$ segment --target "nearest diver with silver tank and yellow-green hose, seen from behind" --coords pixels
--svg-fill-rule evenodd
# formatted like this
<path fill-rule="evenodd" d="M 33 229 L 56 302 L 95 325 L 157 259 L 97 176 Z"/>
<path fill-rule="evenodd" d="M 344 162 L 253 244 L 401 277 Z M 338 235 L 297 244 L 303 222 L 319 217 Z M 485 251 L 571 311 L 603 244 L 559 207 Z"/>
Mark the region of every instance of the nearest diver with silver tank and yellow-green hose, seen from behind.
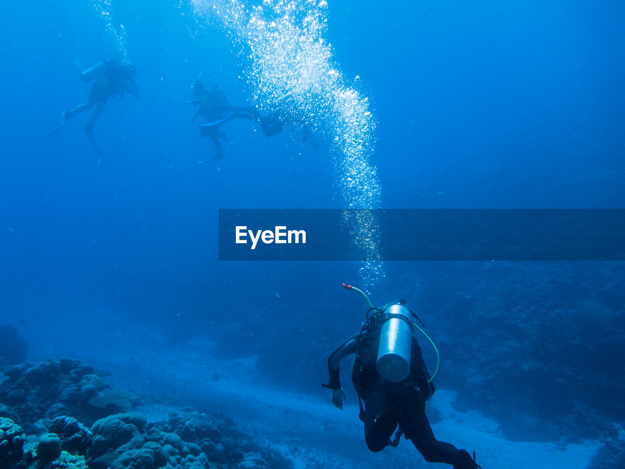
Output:
<path fill-rule="evenodd" d="M 432 380 L 438 373 L 438 366 L 430 377 L 413 335 L 416 329 L 425 335 L 412 322 L 413 317 L 419 318 L 404 306 L 403 298 L 399 303 L 374 308 L 362 291 L 351 285 L 343 286 L 362 295 L 370 309 L 361 331 L 347 338 L 327 359 L 330 380 L 322 386 L 332 390 L 332 404 L 343 408 L 342 400 L 346 395 L 339 380 L 339 361 L 354 354 L 352 383 L 358 394 L 360 419 L 364 422 L 364 438 L 369 450 L 376 452 L 387 445 L 397 446 L 403 434 L 428 462 L 446 463 L 454 469 L 480 468 L 475 462 L 475 453 L 471 458 L 466 450 L 436 440 L 427 421 L 426 400 L 434 393 Z M 434 345 L 427 335 L 426 338 Z M 436 346 L 434 348 L 436 350 Z M 437 350 L 436 353 L 438 355 Z M 438 361 L 440 364 L 440 357 Z M 391 440 L 393 433 L 395 436 Z"/>

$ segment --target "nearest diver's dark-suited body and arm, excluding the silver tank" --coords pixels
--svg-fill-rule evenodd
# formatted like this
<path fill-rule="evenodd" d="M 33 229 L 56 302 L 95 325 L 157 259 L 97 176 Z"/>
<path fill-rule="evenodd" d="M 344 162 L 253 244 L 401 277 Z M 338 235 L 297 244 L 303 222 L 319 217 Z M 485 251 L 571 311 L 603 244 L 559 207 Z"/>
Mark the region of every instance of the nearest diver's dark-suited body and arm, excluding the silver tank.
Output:
<path fill-rule="evenodd" d="M 351 286 L 347 287 L 352 289 Z M 404 300 L 398 304 L 403 305 Z M 364 438 L 369 450 L 376 452 L 387 445 L 397 446 L 403 433 L 428 462 L 447 463 L 453 465 L 454 469 L 478 469 L 480 466 L 466 450 L 458 450 L 451 443 L 434 437 L 425 412 L 426 400 L 434 393 L 434 385 L 414 336 L 411 337 L 410 371 L 407 377 L 394 382 L 382 378 L 378 372 L 376 361 L 382 325 L 389 320 L 389 316 L 400 316 L 386 312 L 391 306 L 371 308 L 369 311 L 374 311 L 374 314 L 367 318 L 361 332 L 347 338 L 332 351 L 327 359 L 329 384 L 322 386 L 332 390 L 332 404 L 342 410 L 342 400 L 346 396 L 339 380 L 339 361 L 355 354 L 352 383 L 358 393 L 358 400 L 364 401 L 364 408 L 360 402 L 360 418 L 364 422 Z"/>

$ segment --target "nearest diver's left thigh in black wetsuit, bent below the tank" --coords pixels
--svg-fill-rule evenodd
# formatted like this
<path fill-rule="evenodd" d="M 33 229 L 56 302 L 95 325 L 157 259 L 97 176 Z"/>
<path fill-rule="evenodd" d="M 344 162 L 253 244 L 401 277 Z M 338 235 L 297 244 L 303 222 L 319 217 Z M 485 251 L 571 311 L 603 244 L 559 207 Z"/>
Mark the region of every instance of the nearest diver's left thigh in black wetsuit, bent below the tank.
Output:
<path fill-rule="evenodd" d="M 392 403 L 387 391 L 374 388 L 367 391 L 364 399 L 364 440 L 374 453 L 382 451 L 397 428 Z"/>

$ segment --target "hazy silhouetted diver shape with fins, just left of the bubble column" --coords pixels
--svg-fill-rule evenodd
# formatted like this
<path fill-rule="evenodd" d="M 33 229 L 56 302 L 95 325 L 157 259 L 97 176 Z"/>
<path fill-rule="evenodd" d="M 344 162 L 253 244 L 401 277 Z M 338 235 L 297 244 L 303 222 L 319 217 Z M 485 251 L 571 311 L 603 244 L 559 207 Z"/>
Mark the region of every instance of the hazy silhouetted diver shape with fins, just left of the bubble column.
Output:
<path fill-rule="evenodd" d="M 247 119 L 259 124 L 262 133 L 266 137 L 279 134 L 289 126 L 288 119 L 281 116 L 279 111 L 261 116 L 256 108 L 230 106 L 226 94 L 216 83 L 211 84 L 210 88 L 206 88 L 201 80 L 196 80 L 191 88 L 193 99 L 187 101 L 187 104 L 199 106 L 196 114 L 191 119 L 191 123 L 194 124 L 197 118 L 200 117 L 206 119 L 205 123 L 198 124 L 196 127 L 201 129 L 200 135 L 210 138 L 215 146 L 217 153 L 214 158 L 211 159 L 219 159 L 224 156 L 224 152 L 221 149 L 221 142 L 219 141 L 220 139 L 230 146 L 234 146 L 234 143 L 232 143 L 227 134 L 219 129 L 222 124 L 233 121 L 234 119 Z M 206 161 L 210 160 L 205 159 L 197 163 L 206 163 Z"/>

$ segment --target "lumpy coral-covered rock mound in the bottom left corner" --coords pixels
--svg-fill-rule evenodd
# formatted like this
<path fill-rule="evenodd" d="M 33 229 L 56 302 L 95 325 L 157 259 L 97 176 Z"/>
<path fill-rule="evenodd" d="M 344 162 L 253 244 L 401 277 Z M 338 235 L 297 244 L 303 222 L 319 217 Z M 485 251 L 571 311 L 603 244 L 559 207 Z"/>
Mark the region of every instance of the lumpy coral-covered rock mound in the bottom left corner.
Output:
<path fill-rule="evenodd" d="M 0 469 L 293 466 L 226 415 L 146 414 L 142 398 L 106 383 L 109 374 L 71 358 L 0 368 Z"/>

